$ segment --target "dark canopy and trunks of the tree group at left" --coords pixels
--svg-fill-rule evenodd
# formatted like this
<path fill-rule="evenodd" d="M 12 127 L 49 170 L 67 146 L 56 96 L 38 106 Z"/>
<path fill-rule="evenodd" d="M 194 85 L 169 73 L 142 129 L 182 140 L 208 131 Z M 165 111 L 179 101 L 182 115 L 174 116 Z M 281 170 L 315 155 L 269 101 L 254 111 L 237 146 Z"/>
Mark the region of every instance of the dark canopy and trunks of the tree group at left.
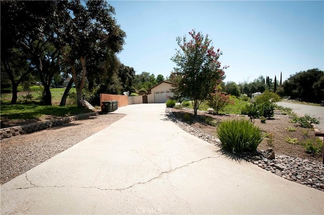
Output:
<path fill-rule="evenodd" d="M 81 100 L 86 76 L 93 79 L 95 74 L 111 73 L 107 59 L 123 49 L 126 33 L 114 14 L 114 8 L 103 0 L 85 4 L 1 1 L 1 66 L 12 82 L 12 103 L 17 99 L 18 84 L 36 70 L 44 85 L 43 101 L 51 105 L 52 80 L 66 68 L 76 85 L 77 101 Z M 17 59 L 23 62 L 17 63 Z M 118 74 L 110 77 L 119 78 Z"/>

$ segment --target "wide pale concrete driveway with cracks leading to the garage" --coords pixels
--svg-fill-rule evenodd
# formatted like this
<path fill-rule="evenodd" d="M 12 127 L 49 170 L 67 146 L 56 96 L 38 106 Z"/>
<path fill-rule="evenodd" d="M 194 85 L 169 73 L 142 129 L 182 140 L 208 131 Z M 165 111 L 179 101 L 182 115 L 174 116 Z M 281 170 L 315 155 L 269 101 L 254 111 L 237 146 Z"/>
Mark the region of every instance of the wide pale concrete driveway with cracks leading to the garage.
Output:
<path fill-rule="evenodd" d="M 164 104 L 116 112 L 128 115 L 2 185 L 1 214 L 324 213 L 324 192 L 222 155 Z"/>

